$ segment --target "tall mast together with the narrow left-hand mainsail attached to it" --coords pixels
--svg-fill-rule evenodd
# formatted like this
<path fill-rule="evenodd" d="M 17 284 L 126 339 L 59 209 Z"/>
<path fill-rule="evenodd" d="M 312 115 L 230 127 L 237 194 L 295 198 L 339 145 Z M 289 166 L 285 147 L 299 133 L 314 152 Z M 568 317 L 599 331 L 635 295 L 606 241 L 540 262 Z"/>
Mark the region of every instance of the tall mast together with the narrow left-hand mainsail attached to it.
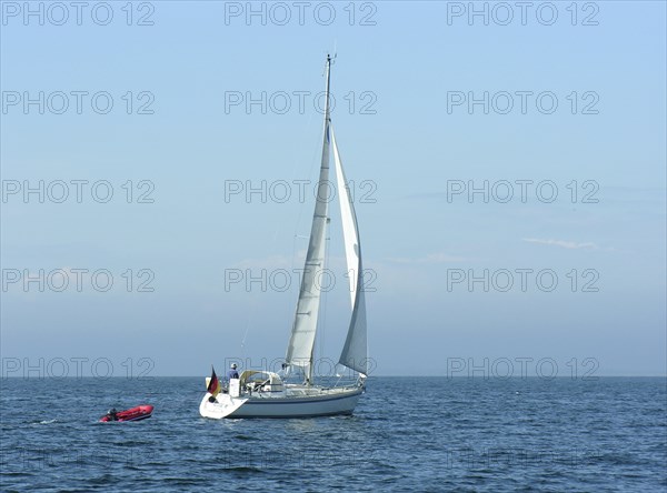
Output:
<path fill-rule="evenodd" d="M 285 356 L 287 364 L 300 366 L 305 370 L 308 383 L 310 383 L 312 376 L 312 356 L 321 296 L 321 272 L 325 268 L 327 223 L 329 220 L 330 69 L 331 57 L 327 54 L 327 87 L 325 92 L 326 102 L 320 175 L 317 187 L 315 212 L 312 214 L 312 225 L 310 228 L 308 252 L 306 254 L 303 275 L 299 289 L 299 300 L 297 301 L 291 336 L 287 346 L 287 355 Z"/>

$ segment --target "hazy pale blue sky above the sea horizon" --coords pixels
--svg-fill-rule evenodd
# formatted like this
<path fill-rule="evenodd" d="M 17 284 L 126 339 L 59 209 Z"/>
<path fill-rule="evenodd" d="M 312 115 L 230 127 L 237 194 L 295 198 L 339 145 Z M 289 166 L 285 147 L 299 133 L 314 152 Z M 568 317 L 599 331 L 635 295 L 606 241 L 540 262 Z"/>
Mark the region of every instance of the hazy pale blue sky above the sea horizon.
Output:
<path fill-rule="evenodd" d="M 246 18 L 246 2 L 133 3 L 128 26 L 125 4 L 110 3 L 107 26 L 100 8 L 96 18 L 84 10 L 81 26 L 70 8 L 56 26 L 61 12 L 42 3 L 40 26 L 16 11 L 22 2 L 2 3 L 3 361 L 108 359 L 122 375 L 128 358 L 147 358 L 155 375 L 203 375 L 225 358 L 281 358 L 298 279 L 266 292 L 225 281 L 237 270 L 300 266 L 321 145 L 313 101 L 336 47 L 332 119 L 375 279 L 376 374 L 445 375 L 448 359 L 486 359 L 490 369 L 522 358 L 550 359 L 561 376 L 573 364 L 585 371 L 587 358 L 598 375 L 666 373 L 663 2 L 579 2 L 576 26 L 570 2 L 554 3 L 551 26 L 549 10 L 539 19 L 529 10 L 522 26 L 515 7 L 500 26 L 504 12 L 478 2 L 486 26 L 467 11 L 452 17 L 468 2 L 398 1 L 311 2 L 302 26 L 291 2 L 253 3 L 263 23 Z M 141 16 L 153 24 L 137 26 Z M 40 91 L 43 114 L 39 104 L 26 110 L 24 97 Z M 69 107 L 57 114 L 60 91 Z M 87 93 L 81 114 L 72 91 Z M 91 105 L 100 92 L 113 101 L 106 114 Z M 248 110 L 247 97 L 262 92 L 265 111 Z M 485 92 L 487 111 L 470 110 L 468 99 Z M 461 94 L 465 103 L 452 105 Z M 145 103 L 152 114 L 138 114 Z M 80 203 L 72 180 L 87 181 Z M 310 180 L 309 200 L 298 200 L 295 180 Z M 24 199 L 24 184 L 40 181 L 43 203 L 39 193 Z M 61 181 L 70 195 L 58 203 Z M 266 201 L 226 197 L 232 183 L 262 181 Z M 292 195 L 273 200 L 285 182 Z M 485 182 L 486 202 L 467 194 Z M 504 202 L 507 183 L 514 195 Z M 109 187 L 113 197 L 101 203 Z M 138 203 L 143 192 L 152 203 Z M 344 282 L 327 294 L 317 346 L 334 359 L 349 303 L 336 214 L 330 260 Z M 52 289 L 59 273 L 43 292 L 10 282 L 40 269 L 63 270 L 70 285 Z M 79 292 L 77 269 L 106 269 L 113 286 L 100 292 L 82 273 Z M 557 275 L 552 291 L 537 284 L 542 271 Z M 488 291 L 468 284 L 485 272 Z M 507 272 L 514 284 L 504 290 Z M 143 281 L 152 292 L 138 291 Z"/>

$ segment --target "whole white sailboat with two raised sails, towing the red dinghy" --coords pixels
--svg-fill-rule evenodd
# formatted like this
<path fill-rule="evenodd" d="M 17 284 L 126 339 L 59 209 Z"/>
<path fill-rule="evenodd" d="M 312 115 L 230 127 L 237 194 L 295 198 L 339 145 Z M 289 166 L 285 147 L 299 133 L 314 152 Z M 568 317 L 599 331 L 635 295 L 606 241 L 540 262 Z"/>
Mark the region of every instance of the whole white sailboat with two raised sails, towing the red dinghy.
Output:
<path fill-rule="evenodd" d="M 367 354 L 366 300 L 361 243 L 355 205 L 342 170 L 330 115 L 331 57 L 326 64 L 326 103 L 322 140 L 322 158 L 312 214 L 312 225 L 306 263 L 299 289 L 299 299 L 287 345 L 283 371 L 245 370 L 238 379 L 230 379 L 229 386 L 220 392 L 217 378 L 207 380 L 207 393 L 199 405 L 205 417 L 307 417 L 351 414 L 366 390 L 369 360 Z M 329 225 L 329 161 L 334 154 L 337 197 L 340 205 L 346 262 L 350 283 L 350 316 L 347 338 L 339 364 L 352 370 L 358 376 L 342 385 L 321 385 L 315 382 L 313 350 L 318 328 L 321 286 L 319 279 L 325 270 L 327 230 Z M 302 381 L 290 383 L 291 374 Z M 215 384 L 211 384 L 215 383 Z"/>

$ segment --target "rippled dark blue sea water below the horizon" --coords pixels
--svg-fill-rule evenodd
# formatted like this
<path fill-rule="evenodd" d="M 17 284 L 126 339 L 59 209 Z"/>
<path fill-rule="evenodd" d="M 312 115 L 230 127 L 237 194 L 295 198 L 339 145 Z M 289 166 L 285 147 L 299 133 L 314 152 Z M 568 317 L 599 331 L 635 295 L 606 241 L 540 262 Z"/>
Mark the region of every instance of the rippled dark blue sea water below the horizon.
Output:
<path fill-rule="evenodd" d="M 352 416 L 222 421 L 202 378 L 0 384 L 2 492 L 667 490 L 661 378 L 370 378 Z"/>

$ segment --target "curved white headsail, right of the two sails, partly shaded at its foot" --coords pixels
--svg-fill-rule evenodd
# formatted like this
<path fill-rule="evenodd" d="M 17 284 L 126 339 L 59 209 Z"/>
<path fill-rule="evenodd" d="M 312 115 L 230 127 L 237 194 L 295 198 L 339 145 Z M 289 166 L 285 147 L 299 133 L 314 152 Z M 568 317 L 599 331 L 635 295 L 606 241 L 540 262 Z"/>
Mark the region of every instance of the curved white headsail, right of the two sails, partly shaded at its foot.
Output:
<path fill-rule="evenodd" d="M 355 204 L 347 188 L 342 162 L 336 144 L 334 128 L 331 131 L 331 143 L 334 145 L 334 162 L 336 168 L 336 180 L 338 184 L 338 202 L 340 203 L 340 219 L 342 223 L 342 235 L 345 239 L 345 256 L 350 281 L 350 298 L 352 316 L 348 329 L 347 339 L 340 354 L 339 363 L 358 371 L 368 373 L 368 346 L 366 335 L 366 298 L 364 295 L 364 269 L 361 266 L 361 243 L 359 241 L 359 229 L 357 227 L 357 214 Z"/>

